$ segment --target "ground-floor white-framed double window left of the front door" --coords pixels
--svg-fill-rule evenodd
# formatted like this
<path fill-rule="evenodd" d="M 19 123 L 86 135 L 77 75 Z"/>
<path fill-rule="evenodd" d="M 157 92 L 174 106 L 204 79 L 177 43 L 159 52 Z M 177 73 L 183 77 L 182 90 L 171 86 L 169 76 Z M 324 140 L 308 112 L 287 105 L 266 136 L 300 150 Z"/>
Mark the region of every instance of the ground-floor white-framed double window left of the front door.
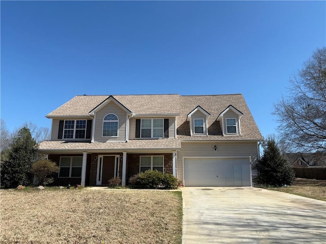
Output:
<path fill-rule="evenodd" d="M 83 157 L 61 157 L 60 178 L 82 177 Z"/>

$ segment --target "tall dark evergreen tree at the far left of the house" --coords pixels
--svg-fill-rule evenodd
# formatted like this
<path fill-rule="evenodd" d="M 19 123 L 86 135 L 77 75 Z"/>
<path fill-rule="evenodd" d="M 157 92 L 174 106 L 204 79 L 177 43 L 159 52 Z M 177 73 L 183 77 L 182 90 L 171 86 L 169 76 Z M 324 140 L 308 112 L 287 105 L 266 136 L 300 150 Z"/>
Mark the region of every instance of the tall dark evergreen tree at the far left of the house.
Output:
<path fill-rule="evenodd" d="M 37 153 L 37 143 L 27 128 L 22 128 L 13 137 L 7 160 L 2 162 L 1 183 L 7 188 L 26 186 L 32 180 L 29 173 Z"/>

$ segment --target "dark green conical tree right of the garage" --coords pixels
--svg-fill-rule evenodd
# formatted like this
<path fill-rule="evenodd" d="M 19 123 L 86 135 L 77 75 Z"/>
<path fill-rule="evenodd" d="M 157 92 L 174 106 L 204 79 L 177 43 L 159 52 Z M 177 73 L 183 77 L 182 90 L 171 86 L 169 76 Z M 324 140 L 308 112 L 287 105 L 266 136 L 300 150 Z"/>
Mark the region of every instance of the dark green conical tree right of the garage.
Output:
<path fill-rule="evenodd" d="M 263 147 L 264 155 L 257 165 L 260 171 L 260 183 L 273 187 L 291 185 L 295 180 L 295 173 L 281 155 L 275 140 L 265 140 Z"/>

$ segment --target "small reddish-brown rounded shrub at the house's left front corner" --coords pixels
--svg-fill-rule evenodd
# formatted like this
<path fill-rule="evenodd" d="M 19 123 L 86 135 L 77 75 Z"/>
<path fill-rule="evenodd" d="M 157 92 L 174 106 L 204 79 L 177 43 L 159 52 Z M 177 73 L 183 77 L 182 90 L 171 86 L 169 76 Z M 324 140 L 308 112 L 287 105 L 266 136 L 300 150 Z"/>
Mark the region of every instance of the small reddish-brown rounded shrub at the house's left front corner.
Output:
<path fill-rule="evenodd" d="M 41 159 L 35 162 L 31 168 L 31 173 L 33 173 L 35 177 L 35 185 L 45 186 L 47 184 L 51 184 L 53 182 L 53 178 L 48 176 L 58 172 L 59 167 L 57 164 L 46 159 Z"/>

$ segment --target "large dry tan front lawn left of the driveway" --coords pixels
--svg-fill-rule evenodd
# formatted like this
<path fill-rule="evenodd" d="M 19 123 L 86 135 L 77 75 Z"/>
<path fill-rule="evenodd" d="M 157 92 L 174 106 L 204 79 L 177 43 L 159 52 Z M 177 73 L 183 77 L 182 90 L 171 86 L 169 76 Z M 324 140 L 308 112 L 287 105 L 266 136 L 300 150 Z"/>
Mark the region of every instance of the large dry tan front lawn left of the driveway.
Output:
<path fill-rule="evenodd" d="M 181 243 L 181 192 L 1 190 L 1 243 Z"/>

